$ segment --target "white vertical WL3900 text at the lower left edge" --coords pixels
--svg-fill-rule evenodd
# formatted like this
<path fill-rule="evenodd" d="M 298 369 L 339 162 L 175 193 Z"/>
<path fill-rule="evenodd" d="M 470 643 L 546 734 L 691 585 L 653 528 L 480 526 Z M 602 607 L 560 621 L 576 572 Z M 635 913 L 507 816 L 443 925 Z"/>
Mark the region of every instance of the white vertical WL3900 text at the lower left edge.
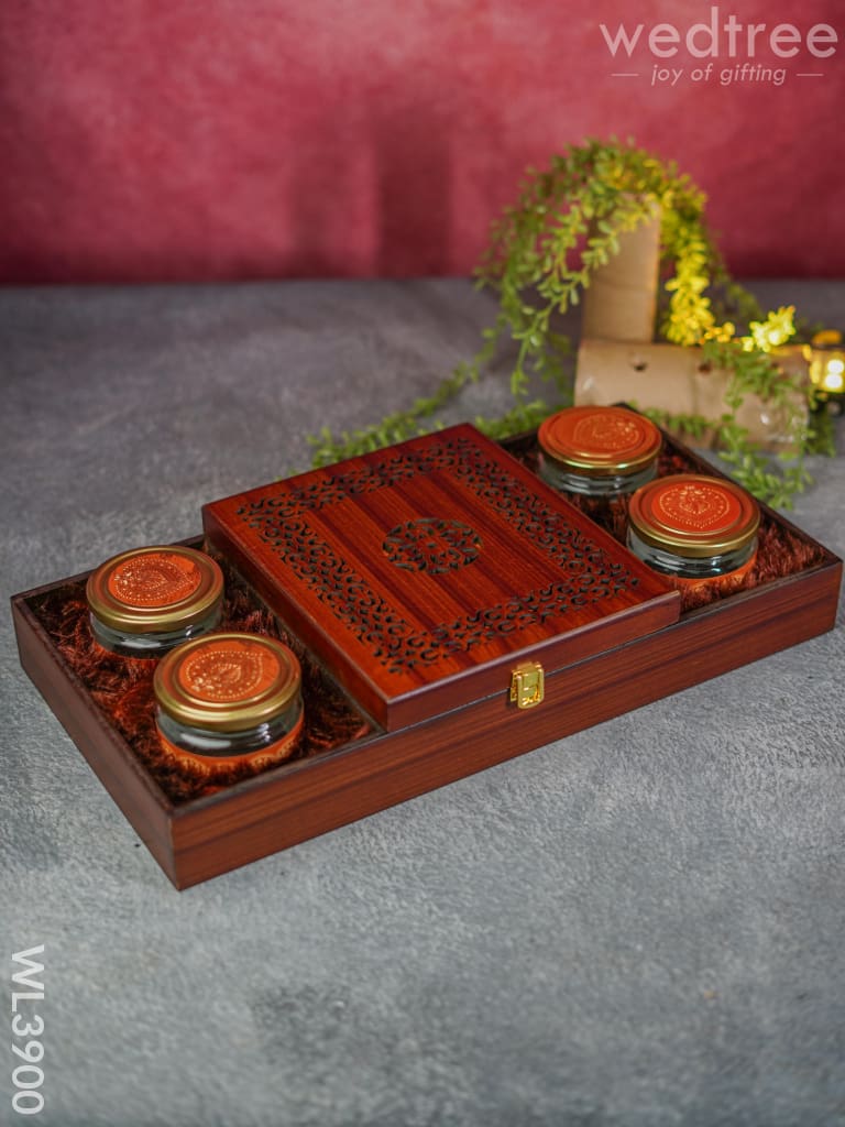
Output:
<path fill-rule="evenodd" d="M 44 1042 L 39 1040 L 44 1019 L 35 1012 L 36 1004 L 44 1001 L 44 985 L 36 982 L 44 974 L 44 966 L 35 961 L 37 955 L 44 955 L 43 943 L 11 957 L 12 964 L 19 967 L 11 976 L 11 1082 L 15 1088 L 11 1106 L 20 1116 L 37 1116 L 44 1107 L 44 1070 L 41 1067 Z"/>

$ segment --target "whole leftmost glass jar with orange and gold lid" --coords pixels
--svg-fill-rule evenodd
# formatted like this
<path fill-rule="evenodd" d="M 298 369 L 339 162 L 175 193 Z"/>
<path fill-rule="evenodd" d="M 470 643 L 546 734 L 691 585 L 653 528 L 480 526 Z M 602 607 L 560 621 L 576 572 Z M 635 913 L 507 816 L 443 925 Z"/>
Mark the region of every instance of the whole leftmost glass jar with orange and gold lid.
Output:
<path fill-rule="evenodd" d="M 131 657 L 158 657 L 217 627 L 223 573 L 194 548 L 136 548 L 97 568 L 86 596 L 100 646 Z"/>

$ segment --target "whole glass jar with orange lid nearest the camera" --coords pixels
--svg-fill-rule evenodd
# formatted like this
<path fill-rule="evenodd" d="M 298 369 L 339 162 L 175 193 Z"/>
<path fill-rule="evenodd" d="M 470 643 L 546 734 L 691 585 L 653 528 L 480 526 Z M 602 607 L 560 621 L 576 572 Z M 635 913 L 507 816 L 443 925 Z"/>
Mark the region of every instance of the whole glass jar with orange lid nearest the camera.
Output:
<path fill-rule="evenodd" d="M 288 758 L 304 722 L 296 655 L 274 638 L 211 633 L 155 669 L 155 724 L 177 757 L 210 775 Z"/>

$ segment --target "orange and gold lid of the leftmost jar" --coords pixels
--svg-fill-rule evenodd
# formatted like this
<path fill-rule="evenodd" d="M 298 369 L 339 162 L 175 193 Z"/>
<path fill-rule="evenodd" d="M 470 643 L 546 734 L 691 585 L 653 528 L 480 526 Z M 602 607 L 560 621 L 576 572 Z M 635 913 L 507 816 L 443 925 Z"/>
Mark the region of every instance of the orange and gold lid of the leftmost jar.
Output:
<path fill-rule="evenodd" d="M 97 568 L 86 596 L 91 612 L 113 630 L 164 633 L 206 618 L 220 605 L 223 573 L 194 548 L 135 548 Z"/>

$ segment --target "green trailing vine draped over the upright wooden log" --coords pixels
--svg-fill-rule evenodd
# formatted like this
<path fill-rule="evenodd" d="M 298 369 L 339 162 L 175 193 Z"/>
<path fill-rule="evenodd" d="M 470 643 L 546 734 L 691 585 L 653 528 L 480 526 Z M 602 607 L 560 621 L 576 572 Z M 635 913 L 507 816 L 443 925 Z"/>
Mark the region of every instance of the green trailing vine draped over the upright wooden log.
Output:
<path fill-rule="evenodd" d="M 493 437 L 528 429 L 571 402 L 564 358 L 568 338 L 560 316 L 578 305 L 596 269 L 619 251 L 620 237 L 661 215 L 661 287 L 658 339 L 701 348 L 702 362 L 730 373 L 720 418 L 649 411 L 661 425 L 693 437 L 715 432 L 720 455 L 733 476 L 763 499 L 789 506 L 810 481 L 803 455 L 818 443 L 808 423 L 809 392 L 777 366 L 772 350 L 795 335 L 793 310 L 764 314 L 751 294 L 732 281 L 708 229 L 704 194 L 679 174 L 632 142 L 595 140 L 552 157 L 543 171 L 531 170 L 515 204 L 493 224 L 475 270 L 479 286 L 498 296 L 493 323 L 481 347 L 460 364 L 429 397 L 381 423 L 339 436 L 323 429 L 309 438 L 314 465 L 374 450 L 437 426 L 437 415 L 496 360 L 501 344 L 516 348 L 510 373 L 514 406 L 501 417 L 475 423 Z M 539 398 L 537 383 L 548 393 Z M 756 393 L 791 412 L 794 452 L 789 461 L 763 454 L 739 426 L 737 410 Z M 632 397 L 634 399 L 634 397 Z M 824 443 L 822 443 L 824 445 Z"/>

